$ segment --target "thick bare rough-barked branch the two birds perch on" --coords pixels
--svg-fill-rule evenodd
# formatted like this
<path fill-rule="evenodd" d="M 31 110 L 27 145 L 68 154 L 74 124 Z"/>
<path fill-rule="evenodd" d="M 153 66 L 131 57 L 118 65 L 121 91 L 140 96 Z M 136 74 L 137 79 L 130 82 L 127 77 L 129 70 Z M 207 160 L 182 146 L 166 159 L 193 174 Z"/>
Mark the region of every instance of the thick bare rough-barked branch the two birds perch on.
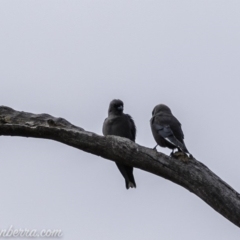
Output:
<path fill-rule="evenodd" d="M 116 136 L 99 136 L 63 118 L 0 107 L 0 135 L 52 139 L 166 178 L 240 227 L 240 194 L 196 159 L 187 163 Z"/>

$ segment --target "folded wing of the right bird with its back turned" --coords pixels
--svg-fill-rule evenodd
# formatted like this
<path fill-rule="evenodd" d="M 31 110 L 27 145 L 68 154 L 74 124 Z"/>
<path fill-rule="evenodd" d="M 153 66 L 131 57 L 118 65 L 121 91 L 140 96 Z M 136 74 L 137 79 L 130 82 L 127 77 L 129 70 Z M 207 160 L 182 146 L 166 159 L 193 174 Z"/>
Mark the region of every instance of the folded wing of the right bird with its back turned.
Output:
<path fill-rule="evenodd" d="M 153 123 L 153 127 L 156 129 L 157 133 L 160 134 L 166 141 L 171 143 L 176 148 L 180 148 L 183 152 L 186 152 L 186 146 L 184 143 L 181 143 L 176 136 L 174 135 L 171 127 L 169 125 L 160 125 L 156 122 Z"/>

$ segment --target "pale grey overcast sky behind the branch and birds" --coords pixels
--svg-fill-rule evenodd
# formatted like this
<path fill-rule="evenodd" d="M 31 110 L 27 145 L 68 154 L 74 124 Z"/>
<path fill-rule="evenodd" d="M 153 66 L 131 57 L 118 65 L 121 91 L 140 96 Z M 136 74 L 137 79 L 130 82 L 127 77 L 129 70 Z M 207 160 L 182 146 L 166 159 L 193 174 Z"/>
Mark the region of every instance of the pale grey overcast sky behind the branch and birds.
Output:
<path fill-rule="evenodd" d="M 102 134 L 125 104 L 136 142 L 168 105 L 189 151 L 240 191 L 240 1 L 2 0 L 0 105 L 63 117 Z M 239 240 L 186 189 L 58 142 L 1 137 L 0 227 L 62 229 L 63 239 Z M 170 150 L 158 148 L 166 154 Z"/>

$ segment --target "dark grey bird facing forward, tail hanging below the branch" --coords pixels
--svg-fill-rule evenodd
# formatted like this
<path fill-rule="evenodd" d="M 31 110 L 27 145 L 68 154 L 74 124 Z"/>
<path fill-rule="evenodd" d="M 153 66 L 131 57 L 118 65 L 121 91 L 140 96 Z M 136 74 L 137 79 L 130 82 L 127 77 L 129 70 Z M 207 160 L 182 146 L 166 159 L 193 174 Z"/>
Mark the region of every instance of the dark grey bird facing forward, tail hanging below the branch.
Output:
<path fill-rule="evenodd" d="M 121 100 L 114 99 L 110 102 L 108 117 L 104 120 L 102 131 L 104 136 L 115 135 L 135 142 L 136 126 L 132 117 L 123 113 L 123 102 Z M 116 164 L 125 179 L 126 188 L 136 188 L 133 167 Z"/>

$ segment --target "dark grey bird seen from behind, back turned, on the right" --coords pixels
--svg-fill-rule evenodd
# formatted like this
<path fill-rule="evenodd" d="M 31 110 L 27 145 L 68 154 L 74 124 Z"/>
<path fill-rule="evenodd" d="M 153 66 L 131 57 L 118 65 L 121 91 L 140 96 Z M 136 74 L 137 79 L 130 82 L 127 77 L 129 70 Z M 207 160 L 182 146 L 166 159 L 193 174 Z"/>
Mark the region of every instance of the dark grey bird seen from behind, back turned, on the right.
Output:
<path fill-rule="evenodd" d="M 173 116 L 168 106 L 157 105 L 152 111 L 150 124 L 157 146 L 172 149 L 171 155 L 174 153 L 174 149 L 178 149 L 178 151 L 191 156 L 183 140 L 184 134 L 181 123 Z"/>

